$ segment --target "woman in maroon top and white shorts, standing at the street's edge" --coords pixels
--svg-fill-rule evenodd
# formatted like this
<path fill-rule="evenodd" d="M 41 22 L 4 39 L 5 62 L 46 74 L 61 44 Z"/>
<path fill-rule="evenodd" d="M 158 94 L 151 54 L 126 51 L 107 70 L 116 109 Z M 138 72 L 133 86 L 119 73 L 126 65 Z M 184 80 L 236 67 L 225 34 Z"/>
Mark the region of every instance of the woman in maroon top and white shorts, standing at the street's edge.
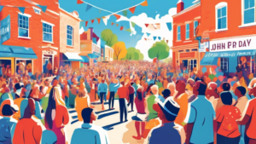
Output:
<path fill-rule="evenodd" d="M 134 139 L 140 140 L 143 138 L 143 132 L 145 130 L 145 125 L 147 121 L 147 101 L 143 97 L 143 87 L 137 89 L 137 96 L 135 98 L 135 106 L 137 108 L 137 115 L 132 117 L 132 120 L 135 120 L 135 128 L 137 131 L 137 136 L 133 135 Z M 140 133 L 142 131 L 142 133 Z"/>

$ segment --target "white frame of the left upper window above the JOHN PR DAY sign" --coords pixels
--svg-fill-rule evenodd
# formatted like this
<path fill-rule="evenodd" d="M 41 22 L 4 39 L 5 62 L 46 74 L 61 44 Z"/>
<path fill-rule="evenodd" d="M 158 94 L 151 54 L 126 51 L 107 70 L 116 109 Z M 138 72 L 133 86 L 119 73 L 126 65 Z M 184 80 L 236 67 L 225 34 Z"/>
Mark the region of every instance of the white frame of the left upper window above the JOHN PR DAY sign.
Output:
<path fill-rule="evenodd" d="M 222 29 L 218 29 L 218 9 L 222 9 L 226 7 L 226 28 L 222 28 Z M 228 24 L 229 24 L 229 17 L 228 17 L 228 3 L 226 2 L 221 2 L 221 3 L 218 3 L 216 6 L 215 6 L 215 32 L 221 32 L 221 31 L 227 31 L 228 30 Z"/>

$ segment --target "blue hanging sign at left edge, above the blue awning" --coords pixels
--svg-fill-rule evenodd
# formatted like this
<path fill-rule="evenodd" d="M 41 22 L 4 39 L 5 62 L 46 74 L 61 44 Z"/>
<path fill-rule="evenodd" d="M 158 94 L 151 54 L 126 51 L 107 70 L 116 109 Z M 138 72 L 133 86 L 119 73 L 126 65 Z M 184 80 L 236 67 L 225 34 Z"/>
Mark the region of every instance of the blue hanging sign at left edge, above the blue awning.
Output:
<path fill-rule="evenodd" d="M 1 21 L 1 28 L 0 28 L 0 43 L 9 40 L 10 38 L 10 16 L 8 15 L 5 19 Z"/>

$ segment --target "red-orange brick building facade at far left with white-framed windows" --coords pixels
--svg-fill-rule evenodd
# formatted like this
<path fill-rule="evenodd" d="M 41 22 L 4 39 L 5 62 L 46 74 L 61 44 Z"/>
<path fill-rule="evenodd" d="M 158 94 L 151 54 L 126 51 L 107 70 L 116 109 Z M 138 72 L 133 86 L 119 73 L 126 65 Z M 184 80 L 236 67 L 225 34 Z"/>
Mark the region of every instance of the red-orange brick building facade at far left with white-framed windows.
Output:
<path fill-rule="evenodd" d="M 37 5 L 47 6 L 45 12 Z M 10 17 L 10 38 L 0 45 L 12 49 L 32 49 L 37 58 L 28 56 L 3 57 L 2 63 L 11 65 L 11 72 L 18 72 L 18 64 L 25 64 L 25 71 L 44 72 L 45 63 L 51 62 L 52 68 L 59 67 L 60 54 L 60 14 L 59 3 L 56 0 L 33 0 L 28 3 L 24 0 L 1 1 L 3 6 L 26 7 L 24 14 L 18 8 L 4 7 L 0 20 Z M 15 48 L 15 47 L 14 47 Z M 6 61 L 7 60 L 7 61 Z M 8 61 L 10 60 L 10 62 Z M 28 64 L 31 67 L 27 68 Z"/>

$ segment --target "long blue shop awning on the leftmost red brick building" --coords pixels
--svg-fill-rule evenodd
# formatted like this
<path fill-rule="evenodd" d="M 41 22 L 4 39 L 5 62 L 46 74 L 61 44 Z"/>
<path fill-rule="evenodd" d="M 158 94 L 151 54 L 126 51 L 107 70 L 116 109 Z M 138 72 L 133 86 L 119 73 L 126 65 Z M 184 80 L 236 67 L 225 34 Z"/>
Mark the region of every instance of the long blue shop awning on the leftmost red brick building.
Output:
<path fill-rule="evenodd" d="M 0 48 L 1 48 L 0 57 L 38 59 L 38 56 L 35 54 L 35 52 L 31 48 L 9 46 L 9 45 L 0 45 Z"/>

